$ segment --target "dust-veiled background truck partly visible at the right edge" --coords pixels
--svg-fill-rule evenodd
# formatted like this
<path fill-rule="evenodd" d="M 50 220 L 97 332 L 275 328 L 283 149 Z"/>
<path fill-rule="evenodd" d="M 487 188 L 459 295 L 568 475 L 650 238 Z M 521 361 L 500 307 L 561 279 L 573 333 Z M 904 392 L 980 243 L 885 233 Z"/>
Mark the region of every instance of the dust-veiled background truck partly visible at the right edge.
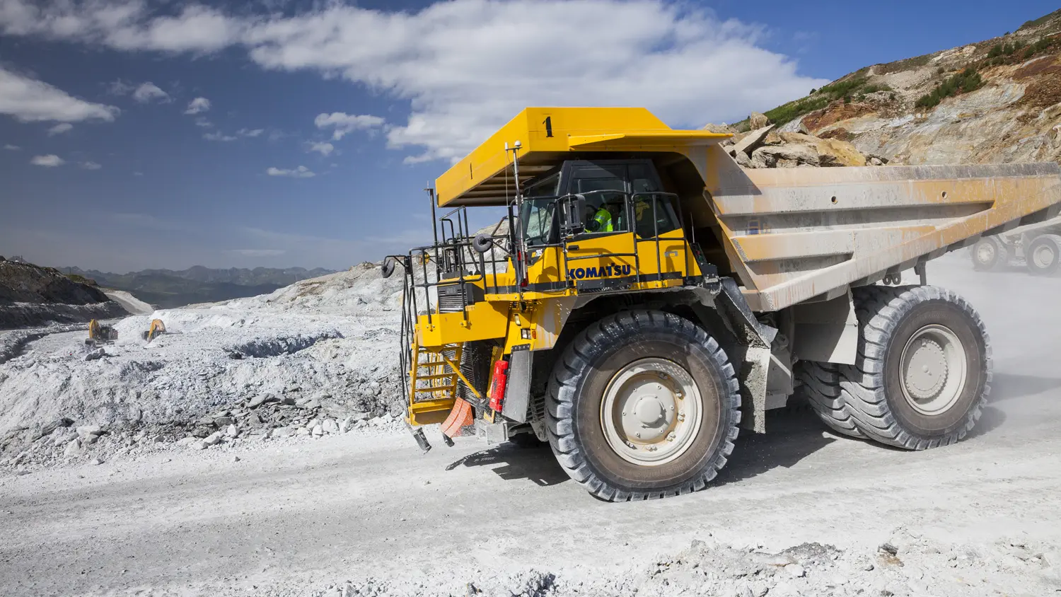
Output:
<path fill-rule="evenodd" d="M 1061 217 L 985 236 L 970 251 L 980 271 L 1003 269 L 1024 261 L 1030 274 L 1049 276 L 1061 270 Z"/>

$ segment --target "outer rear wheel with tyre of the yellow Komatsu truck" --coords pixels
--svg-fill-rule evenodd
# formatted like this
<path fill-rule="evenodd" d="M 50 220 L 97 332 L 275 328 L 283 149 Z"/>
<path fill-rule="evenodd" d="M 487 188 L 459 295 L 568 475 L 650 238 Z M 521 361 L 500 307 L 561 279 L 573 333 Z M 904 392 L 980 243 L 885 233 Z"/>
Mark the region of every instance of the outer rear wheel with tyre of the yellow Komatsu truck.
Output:
<path fill-rule="evenodd" d="M 934 286 L 864 286 L 853 294 L 858 355 L 839 372 L 855 427 L 907 450 L 963 438 L 990 392 L 991 348 L 979 315 Z"/>

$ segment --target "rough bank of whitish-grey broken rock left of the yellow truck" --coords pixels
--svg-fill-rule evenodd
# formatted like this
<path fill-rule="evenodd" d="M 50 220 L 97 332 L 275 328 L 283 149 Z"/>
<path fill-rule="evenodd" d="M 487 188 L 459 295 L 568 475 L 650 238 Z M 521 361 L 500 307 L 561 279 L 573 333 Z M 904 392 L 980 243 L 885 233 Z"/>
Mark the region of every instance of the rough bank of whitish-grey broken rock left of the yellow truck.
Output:
<path fill-rule="evenodd" d="M 400 393 L 400 276 L 364 264 L 267 296 L 127 317 L 115 323 L 119 339 L 92 353 L 84 327 L 8 333 L 0 451 L 24 471 L 233 423 L 238 436 L 393 423 L 380 416 Z M 155 318 L 170 333 L 146 343 Z"/>

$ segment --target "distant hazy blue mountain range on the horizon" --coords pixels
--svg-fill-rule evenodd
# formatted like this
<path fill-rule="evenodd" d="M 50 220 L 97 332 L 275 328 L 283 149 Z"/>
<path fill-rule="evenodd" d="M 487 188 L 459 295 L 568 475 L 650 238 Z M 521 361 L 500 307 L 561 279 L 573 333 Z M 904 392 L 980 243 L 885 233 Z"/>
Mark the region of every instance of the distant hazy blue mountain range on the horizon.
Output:
<path fill-rule="evenodd" d="M 129 292 L 138 299 L 160 309 L 268 294 L 298 280 L 334 273 L 320 267 L 211 269 L 202 265 L 181 270 L 144 269 L 128 274 L 110 274 L 80 267 L 59 269 L 64 274 L 95 280 L 95 283 L 106 288 Z"/>

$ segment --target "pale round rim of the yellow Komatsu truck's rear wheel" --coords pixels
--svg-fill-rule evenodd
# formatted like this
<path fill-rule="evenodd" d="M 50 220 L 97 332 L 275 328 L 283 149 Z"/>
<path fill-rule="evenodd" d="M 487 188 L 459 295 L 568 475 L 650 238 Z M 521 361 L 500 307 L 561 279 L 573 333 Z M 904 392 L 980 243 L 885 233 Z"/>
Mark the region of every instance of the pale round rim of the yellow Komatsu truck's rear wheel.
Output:
<path fill-rule="evenodd" d="M 900 385 L 911 408 L 939 415 L 954 406 L 966 385 L 966 350 L 950 329 L 925 326 L 903 348 Z"/>

